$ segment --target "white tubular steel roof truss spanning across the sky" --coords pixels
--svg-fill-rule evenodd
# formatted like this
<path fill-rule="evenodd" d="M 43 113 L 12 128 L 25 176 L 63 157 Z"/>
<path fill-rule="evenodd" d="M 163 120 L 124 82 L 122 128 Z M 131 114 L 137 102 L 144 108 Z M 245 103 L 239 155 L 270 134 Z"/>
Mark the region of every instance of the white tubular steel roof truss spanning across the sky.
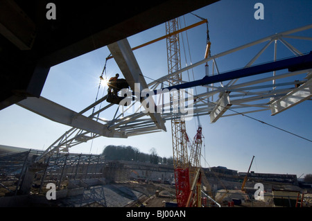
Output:
<path fill-rule="evenodd" d="M 161 90 L 168 85 L 173 85 L 174 82 L 176 82 L 177 85 L 181 82 L 187 82 L 180 80 L 176 76 L 179 76 L 184 71 L 198 67 L 201 64 L 206 64 L 207 62 L 212 62 L 213 69 L 210 76 L 216 76 L 220 74 L 216 63 L 217 58 L 223 58 L 226 55 L 250 48 L 263 42 L 266 42 L 266 45 L 254 55 L 248 64 L 245 64 L 245 67 L 251 67 L 259 56 L 266 51 L 270 44 L 274 44 L 275 46 L 273 55 L 276 59 L 277 42 L 281 42 L 281 44 L 286 46 L 286 48 L 288 48 L 295 56 L 299 57 L 302 53 L 295 48 L 295 46 L 289 44 L 286 39 L 300 39 L 304 41 L 312 40 L 312 37 L 292 35 L 311 28 L 312 24 L 264 37 L 223 53 L 212 55 L 209 58 L 174 71 L 173 73 L 164 74 L 162 78 L 153 80 L 148 84 L 145 82 L 144 74 L 139 70 L 139 65 L 137 64 L 135 56 L 130 50 L 130 45 L 126 39 L 116 42 L 108 47 L 112 52 L 121 52 L 122 56 L 119 55 L 120 53 L 115 53 L 114 59 L 119 65 L 119 68 L 123 70 L 123 76 L 128 80 L 130 86 L 132 85 L 132 91 L 136 87 L 136 82 L 141 83 L 141 88 L 139 89 L 144 89 L 142 87 L 146 85 L 148 91 L 153 91 L 157 89 Z M 203 76 L 205 76 L 205 74 Z M 294 76 L 297 78 L 296 80 L 293 80 Z M 272 73 L 266 73 L 266 75 L 261 74 L 254 76 L 253 78 L 244 78 L 242 82 L 238 81 L 240 78 L 236 78 L 228 80 L 227 82 L 202 85 L 202 88 L 208 88 L 209 90 L 202 94 L 193 94 L 192 91 L 186 91 L 186 96 L 184 97 L 186 100 L 184 103 L 186 111 L 178 111 L 174 114 L 173 109 L 171 108 L 170 99 L 166 100 L 165 98 L 169 93 L 149 97 L 149 99 L 151 99 L 149 100 L 150 104 L 155 105 L 155 110 L 157 110 L 157 113 L 155 114 L 144 112 L 146 111 L 144 100 L 147 98 L 141 98 L 140 94 L 137 94 L 135 96 L 136 99 L 133 101 L 131 100 L 128 106 L 107 103 L 105 101 L 106 96 L 104 96 L 79 113 L 73 112 L 66 107 L 62 107 L 49 101 L 50 107 L 58 107 L 58 111 L 64 111 L 62 118 L 58 119 L 55 119 L 55 114 L 51 114 L 49 110 L 39 109 L 32 104 L 35 99 L 44 100 L 45 98 L 31 98 L 33 99 L 33 102 L 30 103 L 28 103 L 27 100 L 31 99 L 28 98 L 19 103 L 19 105 L 41 114 L 42 116 L 46 116 L 53 121 L 73 126 L 71 130 L 60 136 L 60 138 L 37 159 L 37 161 L 43 161 L 44 158 L 49 157 L 51 154 L 55 154 L 55 152 L 68 150 L 74 145 L 87 142 L 98 136 L 127 138 L 129 136 L 164 131 L 166 130 L 166 127 L 164 127 L 166 121 L 179 119 L 181 116 L 184 116 L 184 118 L 187 119 L 194 116 L 210 115 L 211 123 L 214 123 L 220 117 L 234 116 L 237 114 L 249 114 L 270 110 L 271 114 L 275 115 L 311 98 L 311 77 L 312 69 L 286 71 L 285 73 L 272 71 Z M 277 80 L 279 80 L 279 82 L 277 82 Z M 188 98 L 191 98 L 192 100 L 187 100 Z M 83 115 L 87 111 L 95 108 L 98 110 L 93 114 L 89 116 Z M 231 112 L 230 110 L 233 110 L 234 112 Z M 114 116 L 107 119 L 107 116 L 110 116 L 112 113 L 114 113 Z M 105 118 L 101 117 L 100 114 Z"/>

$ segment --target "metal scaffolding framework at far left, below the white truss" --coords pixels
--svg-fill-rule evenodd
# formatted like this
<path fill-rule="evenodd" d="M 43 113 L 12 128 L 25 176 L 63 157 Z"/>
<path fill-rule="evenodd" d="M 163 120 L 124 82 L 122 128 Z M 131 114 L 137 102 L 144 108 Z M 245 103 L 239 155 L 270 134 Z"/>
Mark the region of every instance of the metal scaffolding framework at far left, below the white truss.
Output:
<path fill-rule="evenodd" d="M 1 196 L 18 195 L 24 181 L 27 167 L 40 150 L 14 152 L 0 156 Z M 55 184 L 58 190 L 67 188 L 69 180 L 92 179 L 103 177 L 105 157 L 99 154 L 73 154 L 58 152 L 42 162 L 42 169 L 35 173 L 32 193 L 42 193 L 48 183 Z M 6 190 L 6 191 L 3 191 Z"/>

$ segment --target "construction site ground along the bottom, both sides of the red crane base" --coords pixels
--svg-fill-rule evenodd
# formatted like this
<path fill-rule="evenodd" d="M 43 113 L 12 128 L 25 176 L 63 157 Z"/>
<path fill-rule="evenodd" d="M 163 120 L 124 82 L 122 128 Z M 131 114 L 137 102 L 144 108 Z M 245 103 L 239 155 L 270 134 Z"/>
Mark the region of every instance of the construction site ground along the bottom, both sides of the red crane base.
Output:
<path fill-rule="evenodd" d="M 7 164 L 12 161 L 11 158 L 6 161 Z M 64 168 L 63 164 L 60 164 L 59 168 Z M 166 204 L 168 202 L 173 202 L 170 204 L 171 206 L 174 206 L 176 202 L 175 185 L 172 183 L 174 180 L 172 166 L 118 161 L 102 163 L 98 167 L 93 167 L 93 170 L 89 170 L 89 173 L 87 173 L 88 170 L 85 170 L 86 168 L 87 166 L 84 164 L 67 168 L 64 170 L 61 182 L 56 178 L 62 175 L 60 172 L 63 170 L 51 170 L 51 173 L 47 173 L 49 176 L 44 177 L 45 179 L 38 174 L 29 195 L 20 195 L 17 191 L 17 186 L 22 181 L 19 173 L 15 173 L 15 175 L 3 173 L 0 175 L 0 207 L 164 207 L 168 206 Z M 72 171 L 78 169 L 80 169 L 80 173 L 78 173 L 80 177 L 73 177 Z M 10 172 L 10 167 L 7 170 Z M 202 189 L 212 197 L 211 200 L 209 197 L 202 199 L 204 202 L 207 200 L 207 206 L 273 207 L 275 206 L 272 195 L 273 188 L 304 193 L 304 206 L 312 206 L 312 188 L 300 188 L 291 182 L 267 182 L 265 179 L 250 178 L 245 184 L 246 193 L 241 191 L 242 182 L 238 175 L 203 174 L 206 174 L 207 179 L 202 179 Z M 268 179 L 270 176 L 273 175 L 268 175 L 266 178 Z M 274 176 L 276 177 L 276 175 Z M 46 198 L 46 193 L 49 191 L 46 185 L 49 183 L 58 186 L 57 200 L 47 200 Z M 257 183 L 263 184 L 263 200 L 254 200 L 254 186 Z M 235 204 L 229 204 L 234 201 Z"/>

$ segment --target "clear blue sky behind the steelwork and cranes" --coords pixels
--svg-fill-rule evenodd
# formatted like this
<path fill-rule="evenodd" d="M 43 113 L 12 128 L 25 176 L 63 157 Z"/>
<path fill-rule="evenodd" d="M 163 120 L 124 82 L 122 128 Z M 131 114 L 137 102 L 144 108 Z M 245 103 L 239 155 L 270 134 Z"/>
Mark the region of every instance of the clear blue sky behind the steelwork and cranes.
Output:
<path fill-rule="evenodd" d="M 256 11 L 254 4 L 257 2 L 263 3 L 263 20 L 254 19 Z M 311 10 L 312 1 L 309 0 L 221 0 L 194 13 L 208 19 L 211 55 L 215 55 L 262 37 L 312 24 Z M 187 14 L 184 18 L 181 17 L 183 26 L 184 19 L 187 26 L 200 21 L 197 17 Z M 128 37 L 128 41 L 131 46 L 137 46 L 161 37 L 165 31 L 165 25 L 161 24 Z M 191 60 L 195 63 L 202 60 L 205 53 L 206 26 L 192 28 L 187 31 L 187 34 Z M 305 31 L 302 35 L 312 37 L 312 32 Z M 183 36 L 184 44 L 187 44 L 185 33 Z M 300 48 L 302 52 L 312 51 L 311 41 L 295 42 L 289 39 L 289 42 Z M 261 46 L 264 45 L 218 60 L 220 72 L 243 67 Z M 272 61 L 272 45 L 267 51 L 261 55 L 258 62 Z M 134 53 L 145 76 L 157 79 L 166 75 L 165 40 L 140 48 Z M 84 109 L 96 98 L 98 76 L 101 75 L 105 58 L 109 54 L 110 51 L 105 46 L 51 67 L 42 96 L 76 112 Z M 278 58 L 284 58 L 292 54 L 279 44 L 277 55 Z M 182 67 L 185 67 L 182 48 L 181 58 Z M 189 58 L 187 62 L 190 64 Z M 193 71 L 196 80 L 205 76 L 204 65 Z M 113 76 L 117 72 L 120 73 L 118 66 L 114 60 L 109 60 L 107 76 Z M 150 82 L 149 79 L 146 81 Z M 100 91 L 100 95 L 102 94 L 103 89 Z M 269 111 L 250 114 L 250 116 L 312 139 L 311 110 L 311 100 L 307 100 L 276 116 L 270 116 Z M 17 105 L 1 110 L 0 122 L 0 144 L 39 150 L 48 148 L 70 128 L 37 116 Z M 191 137 L 196 134 L 196 123 L 195 118 L 193 121 L 187 121 L 187 132 Z M 210 123 L 209 116 L 201 116 L 200 123 L 205 136 L 205 150 L 202 150 L 202 154 L 205 154 L 209 166 L 226 166 L 234 170 L 246 171 L 254 155 L 251 170 L 256 173 L 288 173 L 297 176 L 302 173 L 312 173 L 312 144 L 309 141 L 244 116 L 220 118 L 214 124 Z M 166 123 L 166 127 L 168 132 L 133 136 L 128 139 L 101 137 L 94 139 L 93 143 L 89 141 L 78 145 L 72 148 L 71 152 L 99 154 L 105 145 L 114 144 L 132 145 L 141 152 L 149 152 L 151 148 L 155 148 L 159 156 L 170 157 L 172 155 L 170 122 Z M 202 161 L 202 166 L 208 165 Z"/>

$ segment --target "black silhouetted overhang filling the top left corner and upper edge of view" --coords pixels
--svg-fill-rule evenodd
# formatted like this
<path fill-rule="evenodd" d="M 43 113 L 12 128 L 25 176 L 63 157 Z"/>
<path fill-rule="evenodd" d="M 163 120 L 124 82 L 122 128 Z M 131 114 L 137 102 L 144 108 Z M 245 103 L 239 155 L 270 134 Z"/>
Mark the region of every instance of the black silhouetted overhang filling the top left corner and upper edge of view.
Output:
<path fill-rule="evenodd" d="M 40 97 L 49 69 L 219 0 L 0 1 L 0 109 Z M 56 19 L 47 19 L 55 3 Z"/>

